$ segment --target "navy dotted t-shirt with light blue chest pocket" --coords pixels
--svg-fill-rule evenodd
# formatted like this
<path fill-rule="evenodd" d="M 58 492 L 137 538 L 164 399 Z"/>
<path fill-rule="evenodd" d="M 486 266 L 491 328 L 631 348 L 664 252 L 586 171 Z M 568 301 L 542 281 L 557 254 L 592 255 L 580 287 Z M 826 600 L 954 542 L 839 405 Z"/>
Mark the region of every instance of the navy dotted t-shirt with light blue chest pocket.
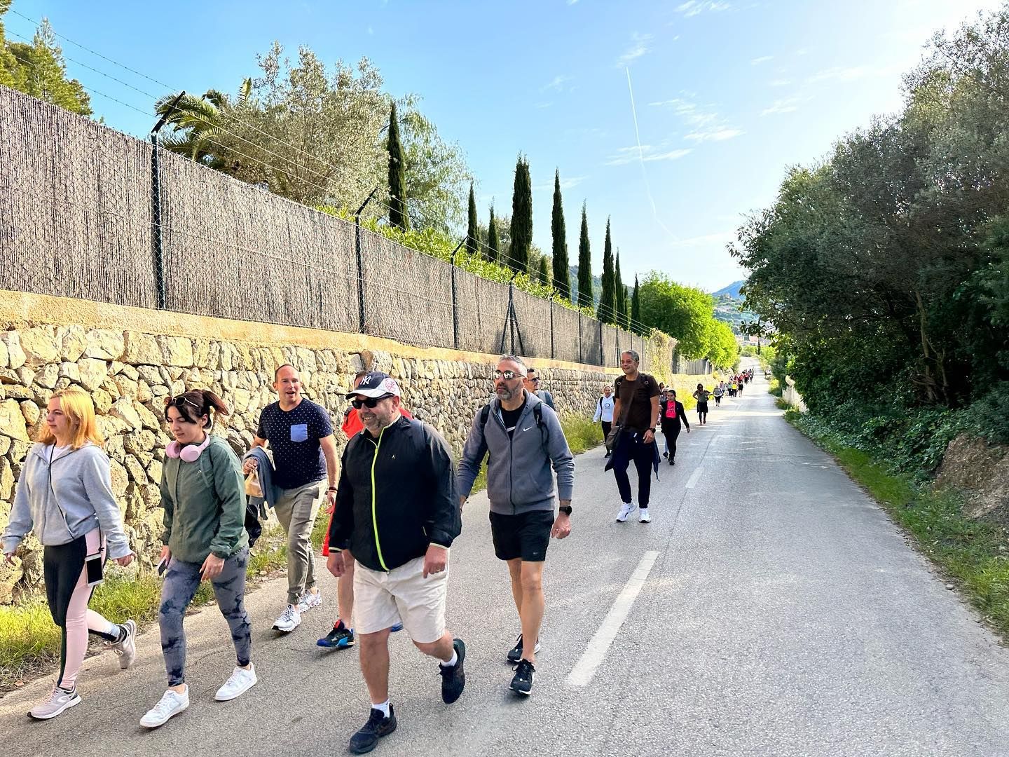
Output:
<path fill-rule="evenodd" d="M 302 398 L 294 410 L 281 410 L 274 402 L 262 409 L 255 435 L 273 450 L 273 485 L 298 489 L 326 477 L 326 457 L 320 439 L 333 433 L 329 413 Z"/>

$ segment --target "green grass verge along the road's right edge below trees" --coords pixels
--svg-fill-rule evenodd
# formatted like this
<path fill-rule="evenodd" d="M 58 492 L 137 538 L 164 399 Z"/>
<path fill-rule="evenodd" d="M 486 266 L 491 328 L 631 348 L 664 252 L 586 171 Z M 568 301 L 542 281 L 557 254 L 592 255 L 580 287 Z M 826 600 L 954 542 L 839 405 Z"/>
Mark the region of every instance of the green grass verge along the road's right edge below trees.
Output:
<path fill-rule="evenodd" d="M 1009 539 L 990 523 L 967 518 L 951 491 L 935 492 L 895 472 L 869 452 L 846 446 L 803 423 L 797 410 L 785 419 L 829 452 L 890 517 L 914 535 L 921 550 L 960 582 L 971 604 L 1009 638 Z M 816 427 L 820 428 L 820 427 Z"/>

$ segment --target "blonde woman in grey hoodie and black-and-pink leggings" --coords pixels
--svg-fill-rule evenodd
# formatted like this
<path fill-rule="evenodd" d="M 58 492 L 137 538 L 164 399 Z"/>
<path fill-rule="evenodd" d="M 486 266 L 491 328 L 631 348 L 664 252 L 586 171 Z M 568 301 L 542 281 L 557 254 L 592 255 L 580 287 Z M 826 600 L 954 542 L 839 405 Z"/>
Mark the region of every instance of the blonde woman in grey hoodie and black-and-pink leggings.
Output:
<path fill-rule="evenodd" d="M 120 565 L 133 560 L 112 495 L 109 458 L 95 427 L 95 405 L 83 390 L 52 395 L 38 443 L 21 469 L 10 522 L 3 534 L 7 562 L 32 529 L 42 543 L 45 597 L 63 633 L 60 675 L 48 698 L 28 713 L 36 720 L 55 718 L 81 702 L 77 674 L 88 651 L 88 634 L 105 640 L 119 655 L 119 666 L 136 656 L 136 624 L 110 623 L 88 610 L 108 556 Z"/>

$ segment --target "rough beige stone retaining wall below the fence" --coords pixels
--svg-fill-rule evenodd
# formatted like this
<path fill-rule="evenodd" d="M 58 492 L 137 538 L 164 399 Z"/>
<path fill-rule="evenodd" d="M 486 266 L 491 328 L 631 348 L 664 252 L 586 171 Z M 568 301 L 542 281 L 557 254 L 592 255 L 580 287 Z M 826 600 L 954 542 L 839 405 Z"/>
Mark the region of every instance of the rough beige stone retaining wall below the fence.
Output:
<path fill-rule="evenodd" d="M 223 323 L 235 331 L 236 322 Z M 425 357 L 424 351 L 406 347 L 401 353 L 346 344 L 327 348 L 241 341 L 220 328 L 217 333 L 229 336 L 227 340 L 105 326 L 8 323 L 8 330 L 0 331 L 0 529 L 7 523 L 21 464 L 44 423 L 49 398 L 55 390 L 80 386 L 95 401 L 111 459 L 112 488 L 130 542 L 146 566 L 160 547 L 157 484 L 170 440 L 162 422 L 165 396 L 194 388 L 219 394 L 232 414 L 214 432 L 241 454 L 251 444 L 260 410 L 276 399 L 270 384 L 278 365 L 290 362 L 301 370 L 305 396 L 327 408 L 336 427 L 354 372 L 384 370 L 401 382 L 407 407 L 458 452 L 474 413 L 492 390 L 491 355 L 474 360 L 472 354 L 427 350 L 432 356 Z M 257 328 L 246 324 L 245 333 L 251 336 Z M 203 333 L 214 333 L 213 324 Z M 330 338 L 341 341 L 336 334 Z M 458 359 L 446 359 L 446 354 Z M 591 414 L 599 389 L 618 372 L 613 368 L 607 377 L 591 366 L 535 364 L 558 408 L 580 414 Z M 341 436 L 337 434 L 342 445 Z M 19 567 L 0 567 L 0 604 L 40 583 L 41 551 L 33 536 L 20 555 Z"/>

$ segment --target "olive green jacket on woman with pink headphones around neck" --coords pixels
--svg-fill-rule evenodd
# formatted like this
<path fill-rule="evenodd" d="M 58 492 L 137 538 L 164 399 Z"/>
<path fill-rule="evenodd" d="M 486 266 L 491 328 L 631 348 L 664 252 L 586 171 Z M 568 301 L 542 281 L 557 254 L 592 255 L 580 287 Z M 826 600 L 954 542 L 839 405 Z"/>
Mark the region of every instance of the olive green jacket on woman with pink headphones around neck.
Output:
<path fill-rule="evenodd" d="M 227 558 L 248 546 L 241 464 L 219 436 L 211 436 L 196 462 L 164 458 L 161 507 L 161 542 L 175 559 L 202 563 L 211 552 Z"/>

